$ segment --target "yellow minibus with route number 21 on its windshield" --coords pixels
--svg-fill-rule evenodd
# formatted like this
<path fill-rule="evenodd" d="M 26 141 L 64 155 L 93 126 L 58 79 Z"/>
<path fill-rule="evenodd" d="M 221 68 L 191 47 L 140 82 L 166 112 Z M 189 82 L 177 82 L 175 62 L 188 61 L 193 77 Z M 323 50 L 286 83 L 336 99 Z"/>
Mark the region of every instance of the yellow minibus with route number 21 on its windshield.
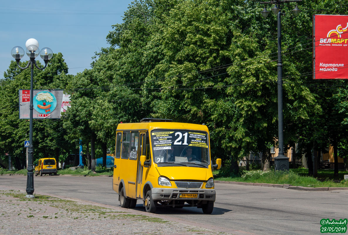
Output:
<path fill-rule="evenodd" d="M 142 119 L 120 123 L 116 131 L 113 190 L 121 207 L 143 200 L 145 211 L 158 206 L 197 206 L 211 214 L 215 202 L 209 131 L 205 125 Z"/>

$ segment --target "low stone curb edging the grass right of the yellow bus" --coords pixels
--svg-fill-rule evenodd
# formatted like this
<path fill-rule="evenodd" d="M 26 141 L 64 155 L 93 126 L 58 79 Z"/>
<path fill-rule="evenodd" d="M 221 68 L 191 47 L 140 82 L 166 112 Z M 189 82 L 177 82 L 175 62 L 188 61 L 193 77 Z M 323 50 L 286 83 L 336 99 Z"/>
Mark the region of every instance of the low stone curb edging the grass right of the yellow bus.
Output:
<path fill-rule="evenodd" d="M 258 186 L 258 187 L 269 187 L 269 188 L 283 188 L 283 189 L 295 189 L 302 191 L 332 191 L 332 190 L 348 190 L 348 188 L 330 188 L 330 187 L 318 187 L 318 188 L 309 188 L 302 186 L 293 186 L 291 184 L 267 184 L 267 183 L 247 183 L 247 182 L 235 182 L 235 181 L 220 181 L 214 180 L 215 183 L 221 184 L 237 184 L 244 186 Z"/>

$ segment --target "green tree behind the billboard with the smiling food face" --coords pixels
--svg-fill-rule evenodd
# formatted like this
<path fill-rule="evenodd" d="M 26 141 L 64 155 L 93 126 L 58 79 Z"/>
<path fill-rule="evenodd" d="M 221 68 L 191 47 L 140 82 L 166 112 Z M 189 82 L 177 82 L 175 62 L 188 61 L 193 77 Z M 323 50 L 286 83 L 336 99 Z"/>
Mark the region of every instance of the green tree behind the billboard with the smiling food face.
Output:
<path fill-rule="evenodd" d="M 38 66 L 43 67 L 39 61 Z M 27 61 L 20 65 L 25 67 Z M 47 68 L 34 68 L 34 89 L 61 89 L 66 86 L 70 75 L 61 53 L 54 54 Z M 29 120 L 19 119 L 18 89 L 30 89 L 30 69 L 21 70 L 15 61 L 11 61 L 4 74 L 0 88 L 0 151 L 15 157 L 16 168 L 25 166 L 24 141 L 29 140 Z M 60 120 L 33 121 L 34 161 L 42 157 L 58 157 L 62 146 L 67 149 L 65 132 Z"/>

